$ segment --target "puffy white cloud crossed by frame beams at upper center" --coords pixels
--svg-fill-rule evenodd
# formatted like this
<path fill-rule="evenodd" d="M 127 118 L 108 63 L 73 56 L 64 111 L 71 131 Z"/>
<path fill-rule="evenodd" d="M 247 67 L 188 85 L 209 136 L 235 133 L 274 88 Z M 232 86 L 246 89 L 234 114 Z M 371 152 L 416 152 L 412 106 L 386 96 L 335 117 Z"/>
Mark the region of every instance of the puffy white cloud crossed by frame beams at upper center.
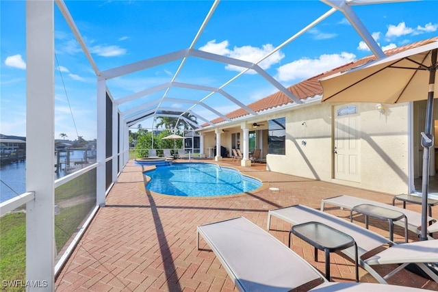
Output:
<path fill-rule="evenodd" d="M 272 44 L 263 44 L 261 48 L 252 47 L 252 46 L 243 46 L 243 47 L 234 47 L 232 50 L 228 48 L 229 42 L 224 40 L 222 42 L 216 42 L 216 40 L 210 40 L 205 44 L 205 46 L 201 47 L 201 51 L 206 51 L 209 53 L 215 53 L 217 55 L 224 55 L 227 57 L 232 57 L 234 59 L 241 59 L 246 62 L 255 63 L 258 62 L 261 58 L 268 55 L 268 53 L 274 50 Z M 259 63 L 259 66 L 263 69 L 268 69 L 272 65 L 277 64 L 283 59 L 285 55 L 281 51 L 276 51 L 267 59 L 264 59 Z M 225 66 L 227 70 L 240 72 L 244 70 L 244 68 L 227 65 Z M 251 71 L 250 71 L 251 72 Z M 255 72 L 251 72 L 255 73 Z"/>

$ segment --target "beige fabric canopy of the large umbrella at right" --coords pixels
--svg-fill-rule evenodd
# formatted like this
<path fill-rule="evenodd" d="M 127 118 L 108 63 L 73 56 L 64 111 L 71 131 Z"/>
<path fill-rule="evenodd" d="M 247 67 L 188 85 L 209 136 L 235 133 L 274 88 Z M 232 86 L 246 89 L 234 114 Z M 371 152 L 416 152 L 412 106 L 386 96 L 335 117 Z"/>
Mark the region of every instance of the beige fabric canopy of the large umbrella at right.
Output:
<path fill-rule="evenodd" d="M 430 42 L 320 79 L 322 101 L 392 104 L 425 100 L 430 70 L 435 69 L 432 52 L 437 48 L 438 41 Z"/>

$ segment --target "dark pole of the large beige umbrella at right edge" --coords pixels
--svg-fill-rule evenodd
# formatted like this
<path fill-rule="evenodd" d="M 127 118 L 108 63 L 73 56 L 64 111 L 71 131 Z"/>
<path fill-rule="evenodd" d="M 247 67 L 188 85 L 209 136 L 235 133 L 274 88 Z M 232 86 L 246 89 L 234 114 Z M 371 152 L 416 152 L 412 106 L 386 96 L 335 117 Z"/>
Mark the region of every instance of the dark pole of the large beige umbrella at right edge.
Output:
<path fill-rule="evenodd" d="M 422 234 L 420 240 L 427 240 L 427 227 L 428 227 L 428 213 L 427 213 L 427 201 L 428 201 L 428 185 L 429 185 L 429 158 L 430 147 L 433 146 L 432 135 L 432 120 L 433 120 L 433 93 L 435 91 L 435 71 L 437 64 L 437 49 L 434 49 L 431 54 L 431 66 L 429 70 L 429 90 L 427 96 L 426 106 L 426 129 L 422 133 L 422 146 L 423 152 L 423 178 L 422 178 Z"/>

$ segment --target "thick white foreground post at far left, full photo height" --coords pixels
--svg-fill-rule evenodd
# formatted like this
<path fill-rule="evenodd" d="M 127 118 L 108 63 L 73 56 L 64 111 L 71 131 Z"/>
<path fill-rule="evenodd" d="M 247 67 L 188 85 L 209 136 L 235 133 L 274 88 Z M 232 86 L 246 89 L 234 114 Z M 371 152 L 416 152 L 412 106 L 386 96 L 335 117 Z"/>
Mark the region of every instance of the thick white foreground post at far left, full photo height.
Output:
<path fill-rule="evenodd" d="M 53 1 L 26 1 L 27 291 L 55 290 L 54 29 Z"/>

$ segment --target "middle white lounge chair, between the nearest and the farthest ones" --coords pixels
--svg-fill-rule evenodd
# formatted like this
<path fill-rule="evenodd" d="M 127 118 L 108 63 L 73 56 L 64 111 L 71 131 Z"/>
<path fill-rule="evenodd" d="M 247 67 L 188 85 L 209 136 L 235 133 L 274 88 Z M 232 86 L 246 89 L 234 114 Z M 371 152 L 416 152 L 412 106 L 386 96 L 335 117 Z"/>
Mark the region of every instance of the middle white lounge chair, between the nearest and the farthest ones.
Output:
<path fill-rule="evenodd" d="M 376 261 L 375 258 L 363 259 L 361 257 L 363 255 L 365 255 L 366 253 L 371 252 L 373 250 L 376 250 L 376 248 L 380 248 L 380 247 L 385 246 L 385 245 L 393 245 L 393 247 L 397 246 L 396 250 L 400 250 L 400 248 L 398 247 L 398 245 L 395 245 L 394 242 L 390 241 L 389 239 L 387 239 L 381 235 L 378 235 L 377 233 L 374 233 L 371 230 L 368 230 L 368 229 L 365 229 L 359 225 L 350 223 L 347 220 L 336 217 L 336 216 L 331 215 L 329 213 L 324 213 L 322 211 L 311 209 L 309 207 L 302 206 L 299 204 L 291 206 L 291 207 L 270 210 L 268 212 L 268 230 L 270 229 L 270 222 L 271 222 L 272 216 L 278 217 L 279 219 L 284 220 L 285 222 L 289 222 L 290 224 L 293 224 L 293 225 L 302 224 L 302 223 L 311 222 L 311 221 L 321 222 L 321 223 L 329 225 L 337 230 L 340 230 L 343 233 L 350 235 L 353 239 L 355 239 L 355 241 L 357 243 L 358 255 L 359 255 L 359 265 L 361 265 L 361 267 L 363 267 L 363 269 L 368 271 L 368 273 L 370 273 L 374 278 L 376 278 L 376 280 L 378 280 L 378 282 L 381 282 L 384 284 L 387 283 L 387 281 L 386 281 L 387 278 L 390 278 L 391 276 L 396 274 L 396 272 L 399 271 L 399 269 L 394 270 L 393 272 L 391 272 L 390 274 L 387 274 L 386 276 L 381 276 L 371 267 L 371 265 L 376 265 L 376 264 L 383 265 L 386 263 L 399 263 L 399 264 L 416 263 L 426 273 L 433 274 L 430 272 L 430 270 L 426 271 L 424 269 L 425 265 L 423 265 L 422 263 L 434 263 L 435 261 L 438 262 L 438 252 L 435 252 L 435 256 L 433 258 L 428 257 L 425 260 L 425 258 L 422 258 L 420 256 L 420 254 L 422 254 L 421 248 L 419 248 L 417 250 L 417 252 L 419 252 L 419 254 L 417 254 L 417 256 L 415 256 L 414 259 L 409 258 L 409 253 L 399 253 L 398 257 L 394 256 L 394 258 L 391 258 L 391 261 L 386 261 L 386 259 L 385 259 L 386 254 L 384 252 L 380 252 L 380 253 L 376 254 L 376 256 L 380 256 L 380 262 Z M 435 241 L 434 243 L 438 244 L 438 241 Z M 403 243 L 401 245 L 404 245 L 404 248 L 412 246 L 412 248 L 415 249 L 415 245 L 410 245 L 410 244 L 411 243 Z M 431 244 L 433 245 L 433 243 L 431 243 Z M 393 248 L 393 247 L 390 247 L 389 250 L 391 250 L 391 248 Z M 394 250 L 394 251 L 396 251 L 396 250 Z M 353 248 L 347 248 L 346 250 L 342 250 L 341 252 L 346 254 L 346 256 L 348 256 L 352 260 L 355 259 L 355 250 Z M 431 278 L 433 278 L 433 280 L 438 282 L 438 276 L 435 274 L 434 275 L 430 275 L 430 274 L 429 274 L 429 276 Z"/>

